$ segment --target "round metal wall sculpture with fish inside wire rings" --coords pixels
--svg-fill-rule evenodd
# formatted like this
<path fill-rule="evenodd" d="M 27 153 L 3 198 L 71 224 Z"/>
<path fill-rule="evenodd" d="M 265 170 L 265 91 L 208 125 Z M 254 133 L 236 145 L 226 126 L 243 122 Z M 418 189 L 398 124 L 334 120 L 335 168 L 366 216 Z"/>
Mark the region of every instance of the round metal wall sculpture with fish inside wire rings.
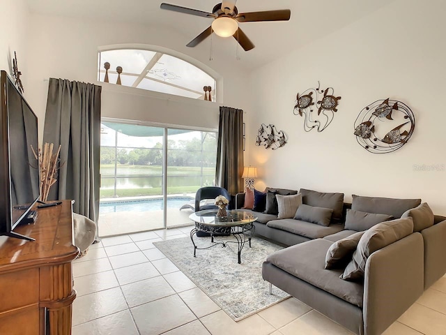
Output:
<path fill-rule="evenodd" d="M 355 121 L 357 142 L 373 154 L 387 154 L 408 142 L 415 130 L 415 115 L 401 101 L 378 100 L 360 112 Z"/>

